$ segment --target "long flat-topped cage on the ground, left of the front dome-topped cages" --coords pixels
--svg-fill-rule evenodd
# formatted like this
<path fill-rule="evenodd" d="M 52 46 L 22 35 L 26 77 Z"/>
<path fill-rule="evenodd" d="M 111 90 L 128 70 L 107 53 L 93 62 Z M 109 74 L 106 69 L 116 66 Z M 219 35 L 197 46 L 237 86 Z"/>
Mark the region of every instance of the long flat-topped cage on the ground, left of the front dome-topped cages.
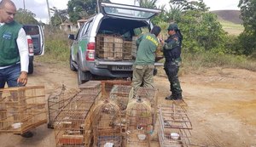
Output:
<path fill-rule="evenodd" d="M 86 117 L 94 105 L 96 94 L 76 94 L 56 117 L 56 146 L 87 146 L 85 139 L 92 130 Z M 88 127 L 88 125 L 90 125 Z M 86 128 L 85 128 L 86 127 Z M 88 142 L 88 141 L 87 141 Z"/>

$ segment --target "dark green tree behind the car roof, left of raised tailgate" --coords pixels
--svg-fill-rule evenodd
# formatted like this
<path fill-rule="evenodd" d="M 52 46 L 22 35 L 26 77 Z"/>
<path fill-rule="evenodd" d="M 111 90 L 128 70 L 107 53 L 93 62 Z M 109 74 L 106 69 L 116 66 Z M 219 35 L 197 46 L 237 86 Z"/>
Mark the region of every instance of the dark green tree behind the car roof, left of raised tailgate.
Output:
<path fill-rule="evenodd" d="M 67 3 L 67 13 L 69 20 L 76 23 L 77 20 L 86 19 L 90 15 L 96 14 L 97 0 L 69 0 Z M 99 2 L 109 2 L 109 0 L 99 0 Z"/>

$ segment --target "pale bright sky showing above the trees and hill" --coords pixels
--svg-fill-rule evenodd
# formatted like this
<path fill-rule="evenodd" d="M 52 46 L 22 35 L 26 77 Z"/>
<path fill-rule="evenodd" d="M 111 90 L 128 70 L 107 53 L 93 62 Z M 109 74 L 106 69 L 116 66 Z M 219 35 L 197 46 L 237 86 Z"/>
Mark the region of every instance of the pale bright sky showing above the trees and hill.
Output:
<path fill-rule="evenodd" d="M 23 2 L 25 2 L 25 8 L 36 14 L 36 19 L 41 20 L 44 23 L 49 21 L 46 0 L 12 0 L 17 9 L 24 8 Z M 133 0 L 113 0 L 115 3 L 121 1 L 125 4 L 132 4 Z M 188 0 L 189 1 L 189 0 Z M 56 7 L 58 9 L 67 8 L 68 0 L 49 0 L 49 8 Z M 157 4 L 162 5 L 168 3 L 169 0 L 158 0 Z M 239 0 L 204 0 L 207 7 L 210 10 L 225 10 L 225 9 L 239 9 L 237 7 Z M 168 5 L 168 4 L 167 4 Z"/>

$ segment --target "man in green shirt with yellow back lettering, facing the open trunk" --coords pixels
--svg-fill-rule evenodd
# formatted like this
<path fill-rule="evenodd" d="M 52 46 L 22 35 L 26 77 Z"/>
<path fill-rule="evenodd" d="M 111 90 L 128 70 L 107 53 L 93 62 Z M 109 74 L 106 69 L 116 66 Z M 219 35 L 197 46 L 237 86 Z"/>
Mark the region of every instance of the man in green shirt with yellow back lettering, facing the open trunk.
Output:
<path fill-rule="evenodd" d="M 155 51 L 158 47 L 160 26 L 154 25 L 153 29 L 137 38 L 137 57 L 133 65 L 132 87 L 134 89 L 134 98 L 138 88 L 143 85 L 144 88 L 154 88 L 154 60 Z"/>

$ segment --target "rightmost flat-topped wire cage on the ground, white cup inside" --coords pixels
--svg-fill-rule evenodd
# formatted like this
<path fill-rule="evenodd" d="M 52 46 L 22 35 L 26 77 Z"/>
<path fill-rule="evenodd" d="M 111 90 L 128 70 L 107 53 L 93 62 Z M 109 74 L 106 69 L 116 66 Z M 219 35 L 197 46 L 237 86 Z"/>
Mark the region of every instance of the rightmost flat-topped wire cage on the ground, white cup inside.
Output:
<path fill-rule="evenodd" d="M 160 127 L 158 135 L 160 147 L 189 146 L 192 124 L 183 106 L 173 104 L 160 107 Z"/>

